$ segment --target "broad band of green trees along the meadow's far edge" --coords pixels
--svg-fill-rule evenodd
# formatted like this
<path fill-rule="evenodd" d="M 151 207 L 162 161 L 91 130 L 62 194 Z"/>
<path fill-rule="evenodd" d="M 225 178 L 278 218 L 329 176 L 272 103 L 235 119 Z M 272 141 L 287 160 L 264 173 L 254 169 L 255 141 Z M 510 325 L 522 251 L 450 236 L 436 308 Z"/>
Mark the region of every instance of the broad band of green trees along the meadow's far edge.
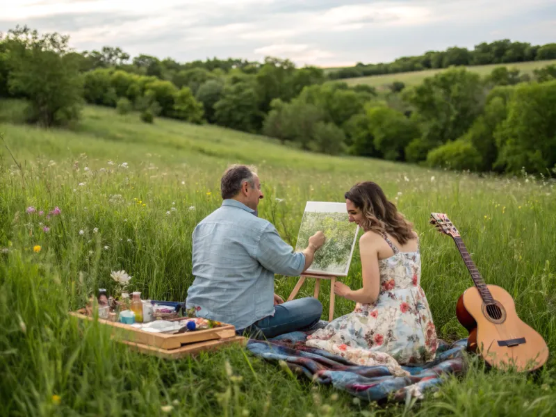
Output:
<path fill-rule="evenodd" d="M 554 174 L 556 65 L 532 77 L 505 66 L 481 77 L 455 67 L 377 94 L 327 81 L 322 69 L 216 58 L 180 64 L 119 48 L 77 53 L 69 38 L 17 27 L 0 35 L 0 97 L 28 102 L 28 122 L 72 124 L 83 103 L 119 113 L 263 133 L 327 154 L 457 170 Z"/>

